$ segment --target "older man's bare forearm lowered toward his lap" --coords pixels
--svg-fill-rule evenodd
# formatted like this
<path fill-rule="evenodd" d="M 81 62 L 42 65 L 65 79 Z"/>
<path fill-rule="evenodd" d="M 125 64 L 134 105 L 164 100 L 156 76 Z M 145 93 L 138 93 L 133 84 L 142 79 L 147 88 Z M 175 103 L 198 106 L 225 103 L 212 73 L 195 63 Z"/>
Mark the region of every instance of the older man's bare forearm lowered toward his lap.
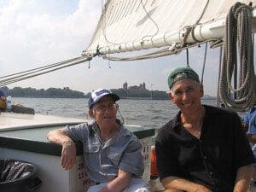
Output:
<path fill-rule="evenodd" d="M 131 182 L 131 173 L 119 169 L 118 177 L 104 186 L 99 192 L 121 192 Z"/>

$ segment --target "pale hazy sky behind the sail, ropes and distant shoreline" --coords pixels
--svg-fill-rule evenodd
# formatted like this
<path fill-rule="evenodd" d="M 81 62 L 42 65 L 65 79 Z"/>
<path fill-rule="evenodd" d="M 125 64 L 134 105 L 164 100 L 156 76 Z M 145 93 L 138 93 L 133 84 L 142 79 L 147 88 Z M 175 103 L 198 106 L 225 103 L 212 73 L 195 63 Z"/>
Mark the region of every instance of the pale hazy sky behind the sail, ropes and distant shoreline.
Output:
<path fill-rule="evenodd" d="M 101 0 L 0 0 L 0 77 L 81 55 L 102 11 Z M 200 75 L 205 45 L 189 50 L 189 65 Z M 216 96 L 219 49 L 208 49 L 205 94 Z M 186 53 L 145 61 L 105 61 L 96 58 L 36 78 L 20 86 L 36 89 L 69 87 L 85 94 L 98 88 L 118 89 L 143 82 L 148 90 L 168 90 L 166 79 L 184 67 Z M 110 67 L 109 67 L 110 66 Z"/>

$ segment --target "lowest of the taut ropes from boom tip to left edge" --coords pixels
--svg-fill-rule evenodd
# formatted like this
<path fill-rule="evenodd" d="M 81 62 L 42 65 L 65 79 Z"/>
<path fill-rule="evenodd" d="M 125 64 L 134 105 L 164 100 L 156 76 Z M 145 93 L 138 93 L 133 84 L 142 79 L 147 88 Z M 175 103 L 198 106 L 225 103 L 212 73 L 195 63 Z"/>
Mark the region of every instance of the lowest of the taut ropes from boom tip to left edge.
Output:
<path fill-rule="evenodd" d="M 83 63 L 83 62 L 85 62 L 85 61 L 90 61 L 90 58 L 84 58 L 84 59 L 81 60 L 81 61 L 75 61 L 75 62 L 73 62 L 73 63 L 71 63 L 71 64 L 67 64 L 66 66 L 57 67 L 57 68 L 55 68 L 55 69 L 51 69 L 51 70 L 46 71 L 46 72 L 33 74 L 33 75 L 30 75 L 30 76 L 27 76 L 27 77 L 23 77 L 23 78 L 19 78 L 19 79 L 12 79 L 12 80 L 9 80 L 9 81 L 7 81 L 7 82 L 0 83 L 0 86 L 4 86 L 4 85 L 7 85 L 7 84 L 13 84 L 13 83 L 18 82 L 18 81 L 21 81 L 21 80 L 30 79 L 30 78 L 33 78 L 33 77 L 36 77 L 36 76 L 39 76 L 39 75 L 42 75 L 42 74 L 45 74 L 45 73 L 54 72 L 54 71 L 59 70 L 59 69 L 61 69 L 61 68 L 65 68 L 65 67 L 70 67 L 70 66 L 73 66 L 73 65 L 77 65 L 77 64 Z"/>

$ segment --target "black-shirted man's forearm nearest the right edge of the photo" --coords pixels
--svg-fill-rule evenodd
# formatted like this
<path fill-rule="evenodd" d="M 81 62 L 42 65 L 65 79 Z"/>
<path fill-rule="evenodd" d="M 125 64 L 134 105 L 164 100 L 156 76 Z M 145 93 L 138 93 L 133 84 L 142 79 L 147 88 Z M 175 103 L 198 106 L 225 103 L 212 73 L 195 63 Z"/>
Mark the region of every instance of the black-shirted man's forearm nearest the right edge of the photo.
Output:
<path fill-rule="evenodd" d="M 241 166 L 236 172 L 234 192 L 246 192 L 251 182 L 252 166 Z"/>

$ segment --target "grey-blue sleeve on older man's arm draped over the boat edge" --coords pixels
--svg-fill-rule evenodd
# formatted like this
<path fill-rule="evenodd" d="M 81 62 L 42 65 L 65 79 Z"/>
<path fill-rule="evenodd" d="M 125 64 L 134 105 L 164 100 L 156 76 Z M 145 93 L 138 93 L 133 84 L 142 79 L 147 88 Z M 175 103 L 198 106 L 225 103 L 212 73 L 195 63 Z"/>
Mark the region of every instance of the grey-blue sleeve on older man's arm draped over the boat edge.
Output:
<path fill-rule="evenodd" d="M 88 126 L 86 124 L 67 125 L 64 131 L 74 142 L 83 142 L 83 137 L 88 133 Z"/>

